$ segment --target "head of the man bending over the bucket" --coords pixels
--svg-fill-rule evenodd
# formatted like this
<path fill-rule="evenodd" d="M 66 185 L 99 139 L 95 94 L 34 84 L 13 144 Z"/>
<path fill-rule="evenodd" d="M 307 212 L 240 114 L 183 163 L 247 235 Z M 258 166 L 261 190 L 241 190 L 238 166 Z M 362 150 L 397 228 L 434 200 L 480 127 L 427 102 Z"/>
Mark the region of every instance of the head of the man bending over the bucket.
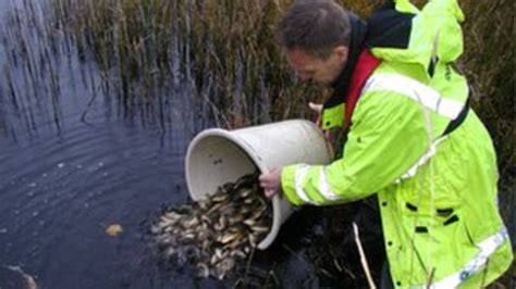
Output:
<path fill-rule="evenodd" d="M 298 1 L 280 22 L 277 38 L 302 80 L 330 85 L 346 65 L 349 16 L 331 0 Z"/>

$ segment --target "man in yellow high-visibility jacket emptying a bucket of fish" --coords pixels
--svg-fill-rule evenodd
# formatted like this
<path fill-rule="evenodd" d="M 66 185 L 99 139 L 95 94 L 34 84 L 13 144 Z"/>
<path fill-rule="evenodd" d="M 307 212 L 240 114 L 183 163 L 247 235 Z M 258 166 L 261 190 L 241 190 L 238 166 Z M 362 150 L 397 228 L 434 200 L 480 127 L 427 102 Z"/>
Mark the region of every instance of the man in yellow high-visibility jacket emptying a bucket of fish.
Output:
<path fill-rule="evenodd" d="M 329 85 L 322 128 L 347 130 L 343 156 L 260 176 L 271 198 L 330 205 L 378 193 L 396 288 L 480 288 L 513 253 L 496 204 L 496 160 L 468 108 L 456 0 L 419 11 L 388 1 L 366 25 L 332 1 L 295 3 L 278 27 L 302 80 Z"/>

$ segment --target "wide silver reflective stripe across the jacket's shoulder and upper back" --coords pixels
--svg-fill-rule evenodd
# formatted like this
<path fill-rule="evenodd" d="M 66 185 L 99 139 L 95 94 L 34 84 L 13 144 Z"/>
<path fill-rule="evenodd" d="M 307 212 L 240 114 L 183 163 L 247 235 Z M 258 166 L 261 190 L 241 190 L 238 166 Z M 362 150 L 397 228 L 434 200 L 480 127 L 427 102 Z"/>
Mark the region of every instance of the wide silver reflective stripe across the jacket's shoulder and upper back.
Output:
<path fill-rule="evenodd" d="M 364 92 L 370 90 L 397 92 L 451 120 L 455 120 L 464 108 L 464 103 L 443 98 L 435 89 L 398 74 L 377 74 L 371 76 L 366 83 Z"/>

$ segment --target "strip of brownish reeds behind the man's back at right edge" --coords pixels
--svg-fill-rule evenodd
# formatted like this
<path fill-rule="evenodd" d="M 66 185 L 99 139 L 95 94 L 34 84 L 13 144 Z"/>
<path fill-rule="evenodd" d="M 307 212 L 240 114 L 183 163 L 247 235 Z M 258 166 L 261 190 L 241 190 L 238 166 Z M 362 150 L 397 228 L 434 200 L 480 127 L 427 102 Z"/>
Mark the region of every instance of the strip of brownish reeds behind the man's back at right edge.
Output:
<path fill-rule="evenodd" d="M 516 178 L 513 5 L 508 0 L 464 1 L 469 18 L 462 68 L 472 85 L 472 105 L 494 140 L 502 191 L 514 190 Z"/>

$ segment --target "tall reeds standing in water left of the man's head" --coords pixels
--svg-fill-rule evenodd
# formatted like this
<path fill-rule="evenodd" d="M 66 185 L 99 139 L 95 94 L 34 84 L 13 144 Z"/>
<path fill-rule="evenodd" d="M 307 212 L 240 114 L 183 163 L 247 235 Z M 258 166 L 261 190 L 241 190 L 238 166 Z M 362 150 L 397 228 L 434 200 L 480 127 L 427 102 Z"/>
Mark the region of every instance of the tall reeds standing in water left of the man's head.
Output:
<path fill-rule="evenodd" d="M 151 97 L 186 81 L 200 114 L 239 127 L 304 116 L 314 95 L 293 78 L 272 37 L 288 2 L 53 0 L 52 18 L 83 58 L 91 52 L 119 97 Z"/>

